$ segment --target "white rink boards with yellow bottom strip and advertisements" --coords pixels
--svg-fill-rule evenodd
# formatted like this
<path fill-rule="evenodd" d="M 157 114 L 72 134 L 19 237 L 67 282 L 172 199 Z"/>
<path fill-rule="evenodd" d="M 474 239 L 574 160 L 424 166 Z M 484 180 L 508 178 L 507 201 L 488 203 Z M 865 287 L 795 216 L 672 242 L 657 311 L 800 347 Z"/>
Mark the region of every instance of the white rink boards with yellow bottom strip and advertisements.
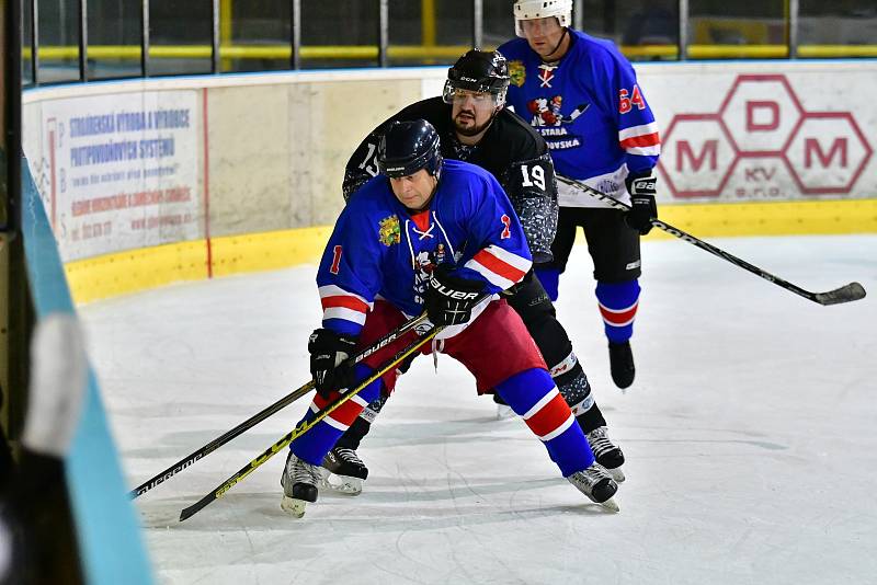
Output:
<path fill-rule="evenodd" d="M 877 90 L 877 61 L 637 71 L 661 125 L 665 221 L 702 237 L 877 230 L 877 105 L 861 97 Z M 355 145 L 402 106 L 437 94 L 445 73 L 258 73 L 29 91 L 25 152 L 75 299 L 312 262 L 342 206 Z"/>

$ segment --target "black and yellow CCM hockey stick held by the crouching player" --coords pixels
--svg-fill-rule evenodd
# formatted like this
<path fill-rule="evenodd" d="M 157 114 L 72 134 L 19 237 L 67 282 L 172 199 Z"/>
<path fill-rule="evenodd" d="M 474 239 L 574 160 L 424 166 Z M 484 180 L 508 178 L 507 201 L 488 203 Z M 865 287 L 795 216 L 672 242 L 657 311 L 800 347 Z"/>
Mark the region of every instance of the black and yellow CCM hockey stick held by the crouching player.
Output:
<path fill-rule="evenodd" d="M 208 504 L 213 503 L 216 500 L 223 497 L 226 492 L 228 492 L 231 487 L 234 487 L 239 481 L 243 478 L 255 471 L 255 468 L 271 459 L 277 451 L 283 449 L 284 447 L 288 446 L 293 440 L 300 437 L 305 433 L 307 433 L 310 428 L 314 427 L 317 423 L 326 418 L 329 414 L 331 414 L 335 409 L 344 404 L 348 400 L 358 394 L 366 386 L 372 383 L 373 381 L 377 380 L 384 374 L 389 371 L 390 369 L 395 368 L 407 358 L 409 355 L 413 354 L 418 349 L 420 349 L 423 345 L 425 345 L 430 340 L 435 337 L 435 335 L 442 331 L 443 326 L 433 326 L 432 330 L 424 334 L 422 337 L 418 339 L 417 341 L 412 342 L 408 347 L 402 349 L 401 352 L 397 353 L 392 359 L 385 363 L 379 369 L 368 376 L 365 380 L 360 382 L 355 388 L 348 391 L 345 394 L 342 394 L 339 400 L 335 402 L 327 405 L 323 410 L 319 412 L 314 418 L 310 421 L 303 421 L 298 426 L 292 429 L 289 433 L 284 435 L 277 443 L 262 451 L 262 454 L 243 466 L 237 473 L 228 478 L 225 482 L 219 484 L 216 489 L 214 489 L 210 493 L 192 504 L 191 506 L 184 508 L 180 512 L 180 521 L 186 520 L 197 514 L 201 509 L 203 509 Z"/>

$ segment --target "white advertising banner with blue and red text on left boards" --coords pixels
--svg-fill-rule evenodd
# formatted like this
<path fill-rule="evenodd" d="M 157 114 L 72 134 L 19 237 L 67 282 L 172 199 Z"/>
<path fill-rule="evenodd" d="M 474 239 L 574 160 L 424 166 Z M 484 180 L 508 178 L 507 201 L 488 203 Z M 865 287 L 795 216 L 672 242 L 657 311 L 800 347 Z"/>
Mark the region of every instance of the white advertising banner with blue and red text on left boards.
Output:
<path fill-rule="evenodd" d="M 65 262 L 201 237 L 197 91 L 48 100 L 32 168 Z"/>

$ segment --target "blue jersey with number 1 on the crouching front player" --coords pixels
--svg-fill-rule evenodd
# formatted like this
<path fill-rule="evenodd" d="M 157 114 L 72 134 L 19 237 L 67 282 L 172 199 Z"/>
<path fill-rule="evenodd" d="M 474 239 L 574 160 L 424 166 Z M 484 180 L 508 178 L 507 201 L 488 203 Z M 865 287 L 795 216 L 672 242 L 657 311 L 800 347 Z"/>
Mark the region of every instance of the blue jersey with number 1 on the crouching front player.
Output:
<path fill-rule="evenodd" d="M 430 273 L 455 263 L 498 292 L 520 282 L 532 259 L 517 216 L 492 174 L 445 160 L 426 209 L 411 214 L 378 175 L 352 197 L 317 273 L 323 326 L 358 334 L 377 298 L 420 314 Z M 475 313 L 474 313 L 475 314 Z"/>

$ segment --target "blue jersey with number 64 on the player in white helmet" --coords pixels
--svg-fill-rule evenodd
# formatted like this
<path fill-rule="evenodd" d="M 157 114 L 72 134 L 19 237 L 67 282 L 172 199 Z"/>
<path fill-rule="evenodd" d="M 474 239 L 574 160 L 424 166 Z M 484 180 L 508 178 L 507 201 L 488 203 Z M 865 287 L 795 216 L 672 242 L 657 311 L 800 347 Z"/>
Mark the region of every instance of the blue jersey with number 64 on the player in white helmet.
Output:
<path fill-rule="evenodd" d="M 556 171 L 628 199 L 628 172 L 652 169 L 661 141 L 654 115 L 630 64 L 610 41 L 569 30 L 571 45 L 548 65 L 515 38 L 499 50 L 509 59 L 509 105 L 548 142 Z M 603 206 L 560 190 L 568 207 Z"/>

